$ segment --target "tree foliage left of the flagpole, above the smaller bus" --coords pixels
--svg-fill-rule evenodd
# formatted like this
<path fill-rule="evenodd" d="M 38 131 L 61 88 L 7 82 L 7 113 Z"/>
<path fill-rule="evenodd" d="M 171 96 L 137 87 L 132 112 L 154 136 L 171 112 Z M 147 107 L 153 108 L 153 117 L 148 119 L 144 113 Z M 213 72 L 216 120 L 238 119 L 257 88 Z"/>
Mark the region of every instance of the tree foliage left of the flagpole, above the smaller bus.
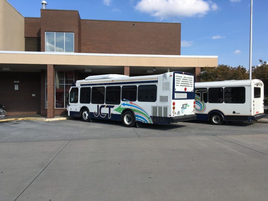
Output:
<path fill-rule="evenodd" d="M 233 68 L 229 65 L 219 64 L 217 67 L 201 68 L 200 81 L 212 82 L 223 80 L 247 80 L 249 77 L 248 70 L 243 66 Z"/>

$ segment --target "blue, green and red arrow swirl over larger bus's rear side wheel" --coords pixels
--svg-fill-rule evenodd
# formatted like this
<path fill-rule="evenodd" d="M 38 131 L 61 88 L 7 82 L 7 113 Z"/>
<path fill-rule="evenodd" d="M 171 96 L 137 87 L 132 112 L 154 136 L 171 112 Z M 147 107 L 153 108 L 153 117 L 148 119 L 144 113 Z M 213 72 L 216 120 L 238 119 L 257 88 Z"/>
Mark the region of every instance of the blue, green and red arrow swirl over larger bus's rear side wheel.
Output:
<path fill-rule="evenodd" d="M 128 101 L 126 99 L 123 99 L 123 100 Z M 150 115 L 142 107 L 138 106 L 137 104 L 135 104 L 131 101 L 122 103 L 119 107 L 114 109 L 114 111 L 122 113 L 122 111 L 126 108 L 129 108 L 134 112 L 135 117 L 136 117 L 136 121 L 140 121 L 143 123 L 149 123 L 149 124 L 153 123 Z"/>

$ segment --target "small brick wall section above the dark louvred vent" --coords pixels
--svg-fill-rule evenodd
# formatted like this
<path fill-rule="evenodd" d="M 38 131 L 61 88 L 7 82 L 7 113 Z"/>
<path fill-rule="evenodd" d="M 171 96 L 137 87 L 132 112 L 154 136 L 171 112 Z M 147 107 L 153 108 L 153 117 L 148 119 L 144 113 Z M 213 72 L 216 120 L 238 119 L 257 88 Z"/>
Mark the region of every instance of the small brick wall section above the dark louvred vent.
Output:
<path fill-rule="evenodd" d="M 25 17 L 24 18 L 24 37 L 40 38 L 41 18 Z"/>

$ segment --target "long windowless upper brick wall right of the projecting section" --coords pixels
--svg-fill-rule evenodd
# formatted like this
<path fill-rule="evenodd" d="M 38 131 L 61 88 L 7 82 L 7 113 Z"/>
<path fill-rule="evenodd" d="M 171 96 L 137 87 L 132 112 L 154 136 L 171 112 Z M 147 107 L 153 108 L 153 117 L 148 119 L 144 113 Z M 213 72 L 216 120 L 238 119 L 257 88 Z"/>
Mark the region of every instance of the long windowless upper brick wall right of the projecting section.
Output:
<path fill-rule="evenodd" d="M 180 55 L 180 42 L 180 23 L 81 20 L 82 53 Z"/>

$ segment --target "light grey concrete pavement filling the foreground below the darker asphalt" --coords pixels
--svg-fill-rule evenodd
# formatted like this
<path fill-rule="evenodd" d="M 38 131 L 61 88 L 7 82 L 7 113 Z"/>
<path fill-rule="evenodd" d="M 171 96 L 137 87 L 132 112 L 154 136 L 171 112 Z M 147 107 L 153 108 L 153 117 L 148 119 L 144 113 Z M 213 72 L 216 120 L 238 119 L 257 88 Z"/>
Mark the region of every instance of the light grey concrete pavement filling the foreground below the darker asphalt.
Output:
<path fill-rule="evenodd" d="M 3 201 L 268 199 L 268 134 L 0 144 Z"/>

